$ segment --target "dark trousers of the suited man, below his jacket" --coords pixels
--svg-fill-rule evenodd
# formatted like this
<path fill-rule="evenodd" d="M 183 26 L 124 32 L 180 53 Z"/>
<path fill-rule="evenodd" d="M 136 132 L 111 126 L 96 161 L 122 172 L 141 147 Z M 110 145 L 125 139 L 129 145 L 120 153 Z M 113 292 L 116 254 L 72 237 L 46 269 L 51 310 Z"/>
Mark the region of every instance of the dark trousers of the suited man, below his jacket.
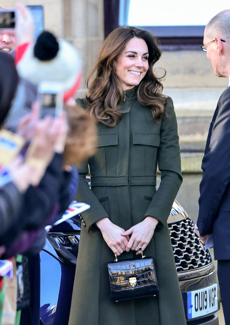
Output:
<path fill-rule="evenodd" d="M 230 325 L 230 260 L 218 261 L 217 274 L 225 325 Z"/>

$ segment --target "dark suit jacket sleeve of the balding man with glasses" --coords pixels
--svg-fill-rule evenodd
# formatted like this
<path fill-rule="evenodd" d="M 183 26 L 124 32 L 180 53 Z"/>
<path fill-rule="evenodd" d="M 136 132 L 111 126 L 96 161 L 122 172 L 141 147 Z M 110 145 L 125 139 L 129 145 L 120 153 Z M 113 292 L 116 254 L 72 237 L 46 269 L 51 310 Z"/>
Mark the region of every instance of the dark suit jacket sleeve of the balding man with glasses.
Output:
<path fill-rule="evenodd" d="M 230 88 L 221 95 L 218 114 L 213 124 L 209 148 L 201 168 L 199 215 L 197 226 L 201 235 L 211 234 L 221 202 L 230 182 Z"/>

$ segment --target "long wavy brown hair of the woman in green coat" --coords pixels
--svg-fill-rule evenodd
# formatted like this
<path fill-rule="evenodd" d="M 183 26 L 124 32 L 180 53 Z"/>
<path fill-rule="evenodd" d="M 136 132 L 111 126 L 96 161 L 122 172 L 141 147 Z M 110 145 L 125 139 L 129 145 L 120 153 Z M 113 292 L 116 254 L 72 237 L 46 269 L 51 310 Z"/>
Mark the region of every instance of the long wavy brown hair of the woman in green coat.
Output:
<path fill-rule="evenodd" d="M 135 27 L 118 27 L 105 39 L 98 61 L 88 74 L 86 84 L 88 87 L 87 110 L 97 122 L 110 127 L 116 125 L 121 119 L 119 108 L 122 104 L 123 93 L 119 78 L 116 74 L 115 62 L 127 42 L 133 38 L 141 38 L 148 46 L 149 69 L 140 82 L 137 90 L 137 99 L 143 106 L 149 107 L 153 113 L 153 120 L 158 121 L 164 113 L 165 96 L 162 95 L 163 85 L 154 74 L 154 64 L 160 59 L 161 51 L 156 38 L 152 33 Z M 93 80 L 90 83 L 90 79 Z"/>

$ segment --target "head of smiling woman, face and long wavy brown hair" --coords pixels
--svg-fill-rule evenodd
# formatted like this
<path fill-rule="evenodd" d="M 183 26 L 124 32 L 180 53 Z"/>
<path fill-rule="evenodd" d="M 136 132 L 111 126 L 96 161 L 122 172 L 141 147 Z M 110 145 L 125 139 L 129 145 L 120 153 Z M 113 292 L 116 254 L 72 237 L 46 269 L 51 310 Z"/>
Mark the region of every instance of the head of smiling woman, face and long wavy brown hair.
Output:
<path fill-rule="evenodd" d="M 133 48 L 134 45 L 135 48 Z M 96 73 L 86 97 L 89 103 L 87 110 L 94 115 L 96 121 L 110 127 L 115 126 L 122 115 L 120 109 L 124 97 L 122 91 L 131 89 L 135 85 L 140 85 L 136 96 L 140 104 L 151 109 L 153 120 L 157 121 L 162 117 L 165 103 L 165 97 L 161 94 L 163 86 L 160 78 L 154 74 L 154 64 L 160 56 L 161 51 L 155 37 L 150 32 L 134 27 L 120 27 L 109 34 L 102 45 L 98 62 L 87 77 L 87 86 L 89 86 L 91 77 Z M 123 68 L 121 68 L 121 61 L 122 65 L 125 62 Z M 105 67 L 106 71 L 102 73 Z M 120 71 L 122 69 L 123 71 Z M 133 73 L 129 72 L 128 75 L 132 75 L 132 82 L 135 80 L 135 83 L 131 82 L 131 85 L 127 86 L 123 84 L 123 78 L 124 73 L 129 69 L 132 69 L 134 73 L 143 72 L 141 75 L 144 77 L 141 78 L 140 75 L 136 78 Z M 127 74 L 125 76 L 127 77 Z M 162 77 L 164 76 L 165 74 Z"/>

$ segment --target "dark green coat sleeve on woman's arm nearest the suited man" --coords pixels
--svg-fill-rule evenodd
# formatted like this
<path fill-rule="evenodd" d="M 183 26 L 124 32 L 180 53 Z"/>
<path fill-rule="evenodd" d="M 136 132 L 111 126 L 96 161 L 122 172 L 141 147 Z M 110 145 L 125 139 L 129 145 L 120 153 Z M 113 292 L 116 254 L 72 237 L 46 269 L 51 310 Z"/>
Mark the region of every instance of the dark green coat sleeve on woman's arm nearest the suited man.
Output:
<path fill-rule="evenodd" d="M 157 230 L 164 227 L 170 214 L 173 201 L 182 183 L 179 137 L 173 101 L 167 98 L 165 114 L 160 129 L 158 169 L 161 182 L 144 217 L 153 216 L 159 220 Z"/>

